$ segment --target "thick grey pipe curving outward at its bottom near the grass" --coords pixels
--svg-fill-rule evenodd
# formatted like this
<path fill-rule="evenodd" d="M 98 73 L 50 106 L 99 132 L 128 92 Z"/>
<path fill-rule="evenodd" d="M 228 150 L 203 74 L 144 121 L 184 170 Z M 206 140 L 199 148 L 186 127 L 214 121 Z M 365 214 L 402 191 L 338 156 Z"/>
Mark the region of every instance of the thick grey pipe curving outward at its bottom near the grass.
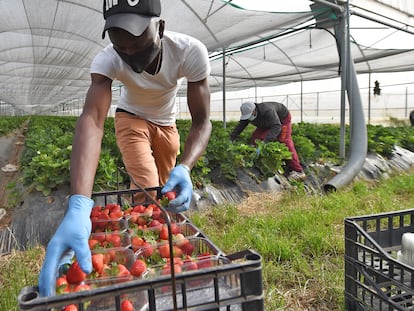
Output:
<path fill-rule="evenodd" d="M 367 130 L 358 80 L 349 48 L 349 7 L 347 3 L 346 13 L 341 16 L 340 23 L 335 27 L 338 36 L 338 50 L 342 51 L 342 45 L 346 44 L 346 90 L 350 106 L 350 157 L 342 171 L 324 185 L 325 192 L 335 191 L 348 183 L 360 172 L 367 155 Z M 348 31 L 345 31 L 348 29 Z M 345 35 L 346 34 L 346 35 Z"/>

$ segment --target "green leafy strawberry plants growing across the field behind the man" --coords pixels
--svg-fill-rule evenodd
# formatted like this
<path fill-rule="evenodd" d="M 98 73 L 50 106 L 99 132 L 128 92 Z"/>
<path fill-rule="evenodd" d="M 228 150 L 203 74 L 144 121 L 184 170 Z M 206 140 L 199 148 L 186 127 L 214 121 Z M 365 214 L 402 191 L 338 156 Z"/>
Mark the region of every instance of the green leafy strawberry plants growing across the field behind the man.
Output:
<path fill-rule="evenodd" d="M 28 120 L 24 155 L 19 163 L 23 172 L 23 183 L 32 185 L 37 191 L 48 195 L 53 189 L 69 183 L 70 153 L 76 124 L 76 117 L 31 116 L 26 119 L 1 117 L 0 128 L 7 124 L 9 131 L 22 126 Z M 283 172 L 285 161 L 291 154 L 279 142 L 260 143 L 260 153 L 250 145 L 249 125 L 238 140 L 231 142 L 230 133 L 237 122 L 213 121 L 213 130 L 207 150 L 192 171 L 192 179 L 197 187 L 214 181 L 234 182 L 239 170 L 254 169 L 252 174 L 261 181 L 275 173 Z M 12 124 L 12 125 L 10 125 Z M 178 120 L 181 148 L 190 129 L 189 120 Z M 6 126 L 5 126 L 6 127 Z M 414 127 L 383 127 L 368 125 L 368 151 L 389 156 L 394 145 L 414 151 Z M 293 124 L 293 140 L 303 164 L 314 162 L 339 163 L 337 157 L 340 146 L 340 128 L 333 124 Z M 349 128 L 346 128 L 346 145 L 349 144 Z M 179 158 L 178 158 L 179 161 Z M 124 170 L 121 155 L 115 142 L 114 120 L 107 118 L 102 152 L 95 176 L 94 191 L 126 188 L 129 179 Z"/>

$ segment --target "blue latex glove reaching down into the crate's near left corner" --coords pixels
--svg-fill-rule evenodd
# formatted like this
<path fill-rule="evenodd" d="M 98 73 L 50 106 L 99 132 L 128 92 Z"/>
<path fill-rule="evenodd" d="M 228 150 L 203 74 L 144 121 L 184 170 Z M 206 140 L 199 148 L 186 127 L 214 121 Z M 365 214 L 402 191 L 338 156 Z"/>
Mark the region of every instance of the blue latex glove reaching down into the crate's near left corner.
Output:
<path fill-rule="evenodd" d="M 68 209 L 46 249 L 46 257 L 39 275 L 39 291 L 42 297 L 56 293 L 56 276 L 63 261 L 75 252 L 81 269 L 92 272 L 91 251 L 88 245 L 92 224 L 90 219 L 93 200 L 72 195 Z"/>

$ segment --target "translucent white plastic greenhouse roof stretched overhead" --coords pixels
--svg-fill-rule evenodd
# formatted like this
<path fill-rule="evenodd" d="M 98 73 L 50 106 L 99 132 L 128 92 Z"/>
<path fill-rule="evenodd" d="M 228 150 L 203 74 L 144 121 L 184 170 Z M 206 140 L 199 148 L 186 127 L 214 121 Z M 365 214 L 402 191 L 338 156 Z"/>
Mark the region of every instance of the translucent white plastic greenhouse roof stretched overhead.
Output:
<path fill-rule="evenodd" d="M 192 35 L 207 46 L 212 92 L 222 90 L 223 75 L 227 91 L 337 77 L 334 32 L 331 25 L 315 27 L 320 24 L 314 19 L 329 16 L 328 1 L 296 1 L 320 6 L 313 12 L 260 12 L 232 1 L 161 0 L 162 18 L 167 30 Z M 89 65 L 109 43 L 101 39 L 101 7 L 100 0 L 0 1 L 0 101 L 36 113 L 84 97 Z M 358 73 L 414 70 L 413 47 L 396 49 L 389 43 L 383 48 L 393 38 L 413 41 L 414 1 L 355 0 L 350 9 Z M 354 18 L 370 24 L 353 28 Z M 371 38 L 369 45 L 356 41 L 362 32 Z"/>

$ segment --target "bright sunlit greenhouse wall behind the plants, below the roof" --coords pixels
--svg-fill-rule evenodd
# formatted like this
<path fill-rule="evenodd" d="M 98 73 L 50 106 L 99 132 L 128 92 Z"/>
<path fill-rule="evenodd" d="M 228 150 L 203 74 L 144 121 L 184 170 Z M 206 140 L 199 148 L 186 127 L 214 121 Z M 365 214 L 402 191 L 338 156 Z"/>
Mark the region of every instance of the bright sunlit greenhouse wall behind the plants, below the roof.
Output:
<path fill-rule="evenodd" d="M 244 101 L 255 102 L 277 101 L 285 104 L 292 113 L 294 123 L 334 123 L 340 122 L 340 84 L 332 85 L 331 90 L 311 91 L 311 86 L 304 83 L 303 93 L 300 86 L 286 93 L 271 93 L 272 89 L 248 89 L 231 92 L 226 95 L 226 105 L 223 107 L 223 94 L 213 93 L 211 96 L 211 119 L 235 121 L 240 117 L 239 107 Z M 289 90 L 287 86 L 281 89 Z M 108 116 L 115 114 L 119 90 L 113 92 L 113 102 Z M 414 110 L 414 82 L 381 85 L 381 95 L 374 95 L 373 88 L 361 87 L 361 97 L 364 102 L 364 114 L 371 124 L 387 125 L 392 119 L 408 120 Z M 45 109 L 37 114 L 79 116 L 82 113 L 84 98 L 71 100 L 57 106 Z M 225 113 L 223 113 L 225 108 Z M 189 119 L 190 113 L 185 97 L 177 97 L 178 119 Z M 348 116 L 348 105 L 346 116 Z M 15 106 L 0 102 L 0 116 L 20 116 L 29 114 Z"/>

